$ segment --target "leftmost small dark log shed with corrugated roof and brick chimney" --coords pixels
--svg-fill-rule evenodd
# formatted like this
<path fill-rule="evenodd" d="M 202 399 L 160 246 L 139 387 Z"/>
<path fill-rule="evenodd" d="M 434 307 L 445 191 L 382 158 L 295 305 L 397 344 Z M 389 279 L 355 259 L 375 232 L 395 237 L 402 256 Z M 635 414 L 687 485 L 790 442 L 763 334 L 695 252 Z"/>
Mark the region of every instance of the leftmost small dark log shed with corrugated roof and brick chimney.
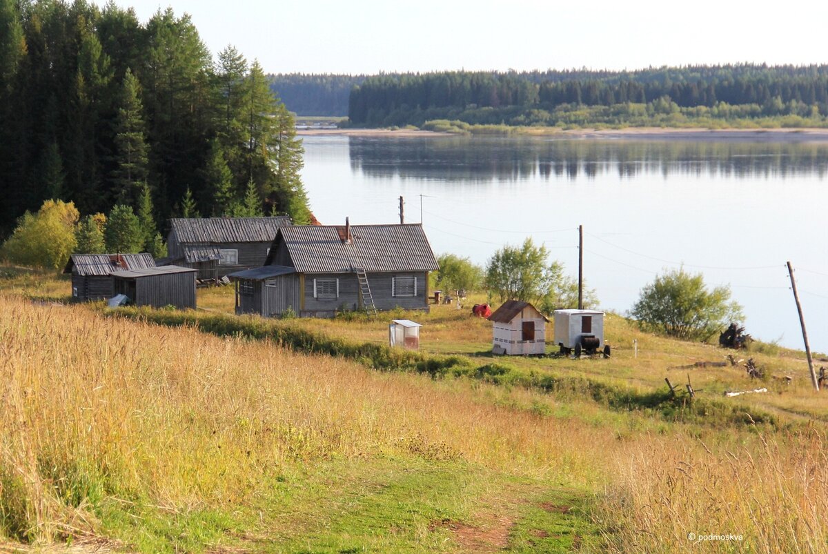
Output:
<path fill-rule="evenodd" d="M 72 254 L 64 273 L 72 275 L 72 298 L 77 301 L 105 300 L 114 296 L 113 272 L 156 267 L 152 255 Z"/>

